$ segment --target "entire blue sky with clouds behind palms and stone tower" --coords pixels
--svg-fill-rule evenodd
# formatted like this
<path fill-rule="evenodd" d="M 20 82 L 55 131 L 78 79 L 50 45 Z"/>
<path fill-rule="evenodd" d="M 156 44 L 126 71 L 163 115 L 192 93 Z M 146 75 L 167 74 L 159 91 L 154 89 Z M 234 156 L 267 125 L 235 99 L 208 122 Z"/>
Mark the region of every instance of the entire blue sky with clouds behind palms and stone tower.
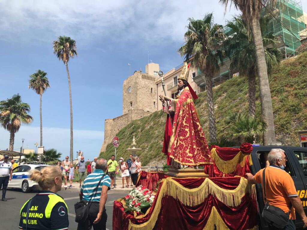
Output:
<path fill-rule="evenodd" d="M 168 71 L 182 62 L 187 18 L 214 13 L 225 24 L 236 13 L 213 1 L 0 1 L 0 100 L 21 94 L 31 106 L 31 125 L 15 135 L 14 149 L 39 142 L 39 95 L 28 89 L 29 75 L 41 69 L 51 87 L 43 94 L 43 145 L 69 155 L 69 95 L 63 62 L 53 55 L 59 35 L 76 40 L 78 57 L 68 63 L 74 122 L 74 153 L 99 154 L 104 120 L 122 115 L 122 83 L 134 70 L 145 71 L 149 59 Z M 307 11 L 307 3 L 302 2 Z M 0 128 L 0 149 L 9 132 Z"/>

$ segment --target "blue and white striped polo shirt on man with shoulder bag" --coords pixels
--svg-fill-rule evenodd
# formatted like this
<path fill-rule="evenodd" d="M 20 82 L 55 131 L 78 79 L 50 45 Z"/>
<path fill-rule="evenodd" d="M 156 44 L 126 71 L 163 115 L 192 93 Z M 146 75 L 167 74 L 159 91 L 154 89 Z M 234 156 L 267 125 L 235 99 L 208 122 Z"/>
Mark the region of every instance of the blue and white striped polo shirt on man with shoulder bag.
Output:
<path fill-rule="evenodd" d="M 91 195 L 94 193 L 95 188 L 100 180 L 100 178 L 103 176 L 104 172 L 101 169 L 96 169 L 95 172 L 89 174 L 85 180 L 84 184 L 82 185 L 80 191 L 83 193 L 83 200 L 89 201 L 91 198 Z M 100 182 L 100 186 L 97 188 L 96 194 L 93 195 L 91 201 L 100 201 L 100 195 L 101 195 L 101 189 L 102 186 L 108 186 L 108 190 L 110 190 L 111 186 L 111 178 L 108 175 L 105 175 L 104 178 Z"/>

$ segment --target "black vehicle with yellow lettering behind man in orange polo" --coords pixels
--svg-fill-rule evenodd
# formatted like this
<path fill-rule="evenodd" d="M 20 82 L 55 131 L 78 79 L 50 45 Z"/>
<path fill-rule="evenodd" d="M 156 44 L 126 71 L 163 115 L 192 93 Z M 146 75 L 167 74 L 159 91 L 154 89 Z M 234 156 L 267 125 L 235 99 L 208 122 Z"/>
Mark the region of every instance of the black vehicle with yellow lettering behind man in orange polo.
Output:
<path fill-rule="evenodd" d="M 291 147 L 291 146 L 254 146 L 251 153 L 253 165 L 251 166 L 251 173 L 255 175 L 260 169 L 265 167 L 263 155 L 270 152 L 272 148 L 281 148 L 286 152 L 287 162 L 285 171 L 287 171 L 293 181 L 297 190 L 297 194 L 301 198 L 301 202 L 305 213 L 307 211 L 307 148 Z M 257 200 L 259 205 L 259 229 L 269 229 L 265 221 L 261 217 L 264 207 L 262 186 L 256 185 Z M 303 222 L 296 213 L 296 228 L 302 228 Z"/>

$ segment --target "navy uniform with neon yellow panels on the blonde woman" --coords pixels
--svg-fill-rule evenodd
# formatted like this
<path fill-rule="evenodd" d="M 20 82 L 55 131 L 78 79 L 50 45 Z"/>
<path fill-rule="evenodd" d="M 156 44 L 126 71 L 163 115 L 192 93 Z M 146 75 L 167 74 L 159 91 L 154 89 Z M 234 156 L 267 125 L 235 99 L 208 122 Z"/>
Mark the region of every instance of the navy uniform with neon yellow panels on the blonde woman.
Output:
<path fill-rule="evenodd" d="M 28 228 L 27 208 L 29 201 Z M 50 191 L 40 191 L 25 202 L 20 210 L 19 229 L 28 230 L 67 230 L 68 207 L 62 197 Z"/>

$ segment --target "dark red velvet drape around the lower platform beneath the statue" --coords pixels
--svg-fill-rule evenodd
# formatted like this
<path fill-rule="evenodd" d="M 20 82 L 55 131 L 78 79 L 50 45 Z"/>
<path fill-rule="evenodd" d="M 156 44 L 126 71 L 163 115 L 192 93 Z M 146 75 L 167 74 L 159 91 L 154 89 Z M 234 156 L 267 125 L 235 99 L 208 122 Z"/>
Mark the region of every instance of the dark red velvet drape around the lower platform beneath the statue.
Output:
<path fill-rule="evenodd" d="M 181 185 L 192 189 L 201 185 L 205 178 L 174 178 Z M 239 177 L 229 178 L 210 178 L 221 188 L 234 190 L 240 182 Z M 163 182 L 162 182 L 163 183 Z M 142 224 L 149 220 L 153 207 L 156 204 L 157 197 L 154 200 L 150 212 L 146 217 L 135 219 L 130 213 L 125 213 L 122 204 L 119 201 L 114 202 L 113 209 L 113 230 L 128 229 L 129 220 L 134 224 Z M 201 230 L 207 223 L 209 215 L 215 207 L 226 226 L 229 229 L 249 229 L 257 225 L 257 204 L 247 193 L 242 202 L 237 207 L 230 207 L 219 201 L 216 197 L 209 195 L 204 202 L 196 206 L 183 205 L 180 201 L 171 196 L 165 196 L 161 201 L 159 218 L 154 229 L 196 229 Z"/>

